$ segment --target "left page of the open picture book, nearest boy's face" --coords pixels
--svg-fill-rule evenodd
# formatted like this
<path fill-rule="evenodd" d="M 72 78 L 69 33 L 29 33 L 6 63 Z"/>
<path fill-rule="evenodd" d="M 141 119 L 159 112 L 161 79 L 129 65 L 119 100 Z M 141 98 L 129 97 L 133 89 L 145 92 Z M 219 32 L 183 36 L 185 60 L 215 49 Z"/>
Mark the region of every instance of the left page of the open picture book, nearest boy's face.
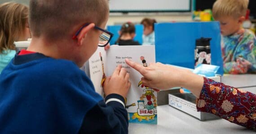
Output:
<path fill-rule="evenodd" d="M 106 51 L 104 47 L 98 47 L 96 52 L 90 57 L 89 62 L 89 72 L 90 79 L 93 82 L 95 91 L 99 93 L 102 97 L 103 83 L 106 79 Z"/>

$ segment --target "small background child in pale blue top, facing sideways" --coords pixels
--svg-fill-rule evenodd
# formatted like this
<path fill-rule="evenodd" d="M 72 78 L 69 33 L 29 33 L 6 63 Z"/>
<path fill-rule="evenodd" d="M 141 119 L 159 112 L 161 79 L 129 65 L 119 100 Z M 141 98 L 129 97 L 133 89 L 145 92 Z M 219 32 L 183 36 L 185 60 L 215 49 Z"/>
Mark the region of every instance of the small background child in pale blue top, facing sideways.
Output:
<path fill-rule="evenodd" d="M 142 35 L 142 45 L 154 45 L 154 19 L 145 18 L 141 21 L 144 26 L 144 31 Z"/>

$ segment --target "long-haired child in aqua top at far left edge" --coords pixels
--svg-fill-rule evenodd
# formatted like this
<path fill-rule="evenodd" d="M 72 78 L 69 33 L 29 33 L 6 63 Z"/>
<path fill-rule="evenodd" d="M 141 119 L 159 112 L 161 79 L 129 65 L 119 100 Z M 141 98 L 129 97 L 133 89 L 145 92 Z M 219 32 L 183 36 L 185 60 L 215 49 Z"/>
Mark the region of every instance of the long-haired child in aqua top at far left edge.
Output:
<path fill-rule="evenodd" d="M 14 2 L 0 4 L 0 74 L 16 53 L 14 42 L 30 37 L 28 7 Z"/>

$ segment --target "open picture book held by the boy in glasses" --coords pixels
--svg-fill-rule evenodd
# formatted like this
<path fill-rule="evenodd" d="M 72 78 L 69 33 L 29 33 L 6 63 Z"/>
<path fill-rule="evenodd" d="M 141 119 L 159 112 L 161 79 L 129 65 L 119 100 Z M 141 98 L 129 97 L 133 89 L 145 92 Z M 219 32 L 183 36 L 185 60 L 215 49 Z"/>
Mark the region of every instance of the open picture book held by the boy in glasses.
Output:
<path fill-rule="evenodd" d="M 131 88 L 125 98 L 125 108 L 131 123 L 157 124 L 157 93 L 141 82 L 142 75 L 125 63 L 125 59 L 141 63 L 147 67 L 155 63 L 154 46 L 110 46 L 109 50 L 98 47 L 88 60 L 89 76 L 96 92 L 104 96 L 103 83 L 107 76 L 112 75 L 118 64 L 129 73 Z"/>

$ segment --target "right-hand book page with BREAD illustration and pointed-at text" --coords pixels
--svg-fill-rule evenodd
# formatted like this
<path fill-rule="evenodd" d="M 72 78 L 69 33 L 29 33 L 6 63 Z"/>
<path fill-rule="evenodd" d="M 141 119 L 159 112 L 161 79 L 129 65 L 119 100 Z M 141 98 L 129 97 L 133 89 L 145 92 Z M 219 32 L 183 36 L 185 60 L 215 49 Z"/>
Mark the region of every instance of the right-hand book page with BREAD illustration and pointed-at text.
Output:
<path fill-rule="evenodd" d="M 130 75 L 132 85 L 125 104 L 129 122 L 157 124 L 157 93 L 142 84 L 142 75 L 125 63 L 126 58 L 147 67 L 149 63 L 155 63 L 154 46 L 110 46 L 107 74 L 112 75 L 117 65 L 122 64 Z"/>

